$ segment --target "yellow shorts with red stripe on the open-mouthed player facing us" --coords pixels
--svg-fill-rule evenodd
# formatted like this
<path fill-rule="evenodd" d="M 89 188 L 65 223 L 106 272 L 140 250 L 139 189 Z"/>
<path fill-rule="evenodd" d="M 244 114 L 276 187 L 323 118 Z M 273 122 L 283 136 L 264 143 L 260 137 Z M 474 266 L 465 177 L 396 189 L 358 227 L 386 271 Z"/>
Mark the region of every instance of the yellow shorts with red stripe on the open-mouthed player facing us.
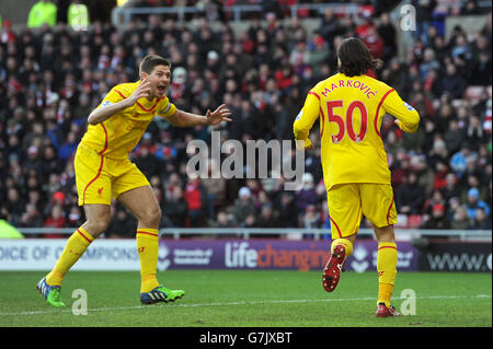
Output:
<path fill-rule="evenodd" d="M 73 161 L 79 206 L 111 205 L 125 191 L 149 185 L 146 176 L 129 159 L 108 159 L 79 144 Z"/>

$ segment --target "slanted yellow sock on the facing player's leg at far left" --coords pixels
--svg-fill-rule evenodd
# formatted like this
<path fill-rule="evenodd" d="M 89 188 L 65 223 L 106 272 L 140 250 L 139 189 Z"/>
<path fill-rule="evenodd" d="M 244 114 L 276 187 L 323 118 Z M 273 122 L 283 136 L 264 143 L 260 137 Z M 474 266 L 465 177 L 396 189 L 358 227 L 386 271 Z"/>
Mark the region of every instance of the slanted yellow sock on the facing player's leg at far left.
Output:
<path fill-rule="evenodd" d="M 67 241 L 64 252 L 55 265 L 55 268 L 46 276 L 49 286 L 61 286 L 64 276 L 84 254 L 89 245 L 94 241 L 84 229 L 79 228 Z"/>

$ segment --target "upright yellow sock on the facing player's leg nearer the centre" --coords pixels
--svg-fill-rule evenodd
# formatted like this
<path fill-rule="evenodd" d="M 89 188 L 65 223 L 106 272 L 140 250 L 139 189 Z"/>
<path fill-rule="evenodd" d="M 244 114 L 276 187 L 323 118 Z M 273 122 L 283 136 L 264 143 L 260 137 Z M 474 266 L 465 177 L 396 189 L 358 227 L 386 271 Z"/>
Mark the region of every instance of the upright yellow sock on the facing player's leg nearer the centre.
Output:
<path fill-rule="evenodd" d="M 140 258 L 140 292 L 149 292 L 159 286 L 158 270 L 159 234 L 157 229 L 137 230 L 137 251 Z"/>

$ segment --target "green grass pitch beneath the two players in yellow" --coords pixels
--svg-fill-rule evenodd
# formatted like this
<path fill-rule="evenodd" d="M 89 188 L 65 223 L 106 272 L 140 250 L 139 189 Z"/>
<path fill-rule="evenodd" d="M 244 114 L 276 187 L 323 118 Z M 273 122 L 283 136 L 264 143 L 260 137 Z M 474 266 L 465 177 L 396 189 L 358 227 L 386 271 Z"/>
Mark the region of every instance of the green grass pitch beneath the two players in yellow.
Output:
<path fill-rule="evenodd" d="M 98 327 L 491 327 L 492 275 L 400 272 L 401 292 L 416 295 L 415 315 L 376 318 L 377 274 L 344 272 L 332 293 L 319 271 L 168 270 L 158 278 L 186 295 L 141 305 L 139 272 L 71 271 L 62 288 L 67 307 L 54 309 L 34 290 L 39 271 L 0 272 L 0 326 Z M 74 315 L 76 289 L 87 292 L 88 315 Z"/>

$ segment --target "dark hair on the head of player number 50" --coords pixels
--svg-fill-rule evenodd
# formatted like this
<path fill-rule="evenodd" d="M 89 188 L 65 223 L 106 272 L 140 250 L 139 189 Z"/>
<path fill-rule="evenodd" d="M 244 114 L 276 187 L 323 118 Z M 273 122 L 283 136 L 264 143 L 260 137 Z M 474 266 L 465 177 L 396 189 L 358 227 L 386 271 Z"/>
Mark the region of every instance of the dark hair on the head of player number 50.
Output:
<path fill-rule="evenodd" d="M 347 77 L 363 75 L 381 62 L 371 57 L 365 43 L 357 37 L 343 39 L 337 48 L 337 57 L 341 60 L 339 71 Z"/>

